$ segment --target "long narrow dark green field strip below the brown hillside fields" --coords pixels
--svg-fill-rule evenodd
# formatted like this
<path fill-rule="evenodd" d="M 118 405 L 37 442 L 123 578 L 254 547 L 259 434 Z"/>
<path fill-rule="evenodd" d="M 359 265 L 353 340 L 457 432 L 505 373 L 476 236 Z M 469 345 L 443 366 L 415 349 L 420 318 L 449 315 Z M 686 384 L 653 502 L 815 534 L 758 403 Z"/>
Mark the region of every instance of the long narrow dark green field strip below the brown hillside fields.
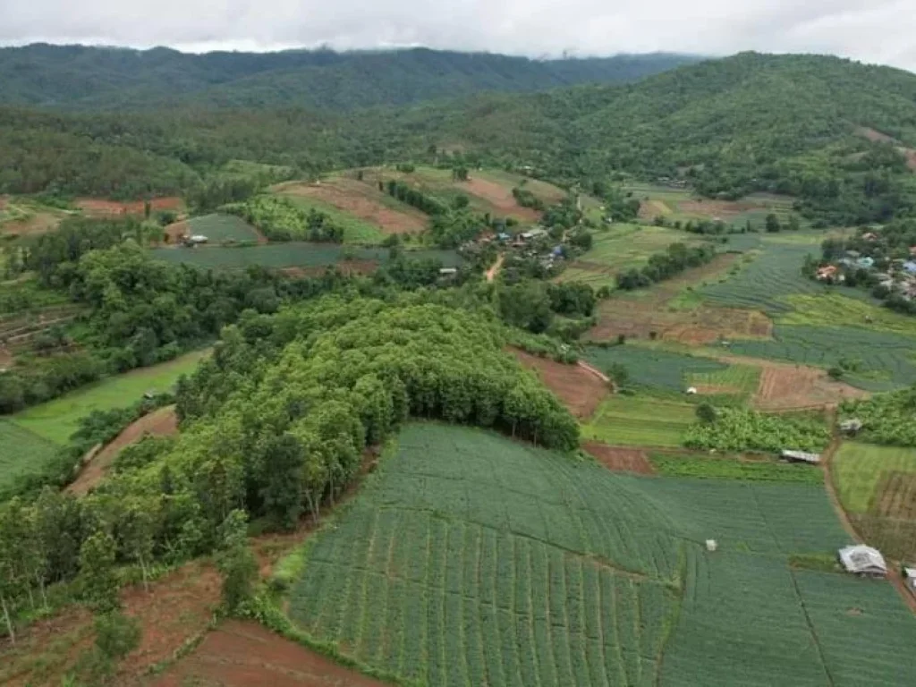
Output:
<path fill-rule="evenodd" d="M 247 245 L 238 248 L 213 246 L 207 248 L 154 248 L 152 254 L 171 263 L 188 263 L 212 269 L 242 269 L 252 265 L 262 267 L 330 267 L 344 260 L 346 254 L 354 260 L 387 262 L 387 248 L 360 248 L 336 244 Z M 405 256 L 440 260 L 443 265 L 457 267 L 461 256 L 453 250 L 406 251 Z"/>

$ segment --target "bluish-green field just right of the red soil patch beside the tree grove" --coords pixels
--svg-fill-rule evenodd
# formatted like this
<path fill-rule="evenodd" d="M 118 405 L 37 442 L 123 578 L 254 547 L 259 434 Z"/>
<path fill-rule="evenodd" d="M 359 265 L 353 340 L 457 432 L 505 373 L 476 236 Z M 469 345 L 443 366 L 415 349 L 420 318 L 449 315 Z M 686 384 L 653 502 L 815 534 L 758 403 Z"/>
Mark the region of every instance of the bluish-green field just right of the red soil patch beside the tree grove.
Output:
<path fill-rule="evenodd" d="M 696 375 L 725 374 L 725 363 L 712 358 L 673 353 L 635 344 L 589 346 L 584 357 L 595 367 L 606 370 L 619 364 L 627 368 L 630 380 L 641 387 L 663 388 L 683 393 L 688 382 Z M 744 372 L 734 373 L 736 376 Z"/>

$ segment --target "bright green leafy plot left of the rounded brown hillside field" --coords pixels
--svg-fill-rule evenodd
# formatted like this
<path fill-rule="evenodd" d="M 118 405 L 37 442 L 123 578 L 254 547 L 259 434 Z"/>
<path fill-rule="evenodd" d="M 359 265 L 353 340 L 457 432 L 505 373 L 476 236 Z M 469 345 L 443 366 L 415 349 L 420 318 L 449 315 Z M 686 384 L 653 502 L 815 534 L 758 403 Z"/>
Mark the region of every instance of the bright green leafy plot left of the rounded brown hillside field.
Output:
<path fill-rule="evenodd" d="M 314 208 L 307 213 L 288 198 L 256 196 L 244 203 L 227 205 L 224 211 L 254 224 L 271 241 L 333 244 L 344 241 L 344 228 L 334 224 L 327 213 Z"/>

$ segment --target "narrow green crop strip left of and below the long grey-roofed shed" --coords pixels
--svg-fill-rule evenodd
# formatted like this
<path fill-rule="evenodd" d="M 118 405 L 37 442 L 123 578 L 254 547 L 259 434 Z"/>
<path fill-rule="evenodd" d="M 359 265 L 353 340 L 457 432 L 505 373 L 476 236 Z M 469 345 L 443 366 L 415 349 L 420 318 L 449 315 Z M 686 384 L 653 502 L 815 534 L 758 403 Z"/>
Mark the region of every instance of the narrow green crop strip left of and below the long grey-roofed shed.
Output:
<path fill-rule="evenodd" d="M 698 479 L 736 479 L 750 482 L 802 482 L 822 484 L 823 472 L 811 465 L 776 459 L 749 461 L 736 457 L 649 453 L 657 474 Z"/>

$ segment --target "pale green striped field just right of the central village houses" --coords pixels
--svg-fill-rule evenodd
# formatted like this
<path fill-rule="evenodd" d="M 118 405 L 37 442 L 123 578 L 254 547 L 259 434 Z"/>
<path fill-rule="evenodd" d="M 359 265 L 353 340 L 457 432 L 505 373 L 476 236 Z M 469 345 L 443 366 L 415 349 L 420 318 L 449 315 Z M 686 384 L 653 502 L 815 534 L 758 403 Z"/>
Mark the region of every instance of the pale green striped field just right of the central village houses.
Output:
<path fill-rule="evenodd" d="M 698 245 L 703 239 L 674 229 L 643 224 L 612 224 L 594 232 L 594 244 L 566 269 L 558 281 L 582 281 L 595 289 L 613 288 L 616 276 L 631 267 L 642 267 L 649 256 L 671 244 Z"/>

